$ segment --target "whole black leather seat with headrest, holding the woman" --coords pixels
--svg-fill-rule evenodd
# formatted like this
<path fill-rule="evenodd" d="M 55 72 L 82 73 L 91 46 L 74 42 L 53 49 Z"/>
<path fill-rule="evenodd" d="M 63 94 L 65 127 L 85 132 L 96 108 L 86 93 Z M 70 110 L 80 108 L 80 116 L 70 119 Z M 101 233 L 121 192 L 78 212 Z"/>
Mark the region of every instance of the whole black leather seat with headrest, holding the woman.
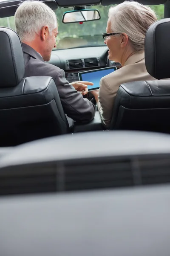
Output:
<path fill-rule="evenodd" d="M 156 21 L 147 30 L 144 53 L 151 76 L 170 78 L 170 18 Z M 170 133 L 170 80 L 121 84 L 111 129 Z"/>

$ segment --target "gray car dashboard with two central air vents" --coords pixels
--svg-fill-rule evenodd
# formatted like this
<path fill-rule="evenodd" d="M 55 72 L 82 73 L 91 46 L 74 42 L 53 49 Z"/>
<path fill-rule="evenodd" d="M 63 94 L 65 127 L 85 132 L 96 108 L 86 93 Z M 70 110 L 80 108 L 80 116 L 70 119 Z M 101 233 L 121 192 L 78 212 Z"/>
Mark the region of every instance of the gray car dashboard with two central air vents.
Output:
<path fill-rule="evenodd" d="M 48 63 L 65 71 L 69 82 L 78 81 L 81 71 L 95 70 L 103 67 L 121 67 L 118 62 L 108 60 L 108 47 L 81 47 L 54 50 Z"/>

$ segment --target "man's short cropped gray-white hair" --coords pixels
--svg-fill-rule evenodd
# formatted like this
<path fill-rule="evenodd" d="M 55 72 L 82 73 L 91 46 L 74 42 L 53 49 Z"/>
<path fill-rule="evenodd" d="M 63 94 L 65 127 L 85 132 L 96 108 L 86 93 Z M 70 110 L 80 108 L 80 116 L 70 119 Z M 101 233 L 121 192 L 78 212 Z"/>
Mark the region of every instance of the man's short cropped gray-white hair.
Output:
<path fill-rule="evenodd" d="M 33 41 L 43 26 L 49 33 L 57 28 L 57 16 L 45 3 L 27 0 L 15 12 L 15 27 L 21 41 Z"/>

